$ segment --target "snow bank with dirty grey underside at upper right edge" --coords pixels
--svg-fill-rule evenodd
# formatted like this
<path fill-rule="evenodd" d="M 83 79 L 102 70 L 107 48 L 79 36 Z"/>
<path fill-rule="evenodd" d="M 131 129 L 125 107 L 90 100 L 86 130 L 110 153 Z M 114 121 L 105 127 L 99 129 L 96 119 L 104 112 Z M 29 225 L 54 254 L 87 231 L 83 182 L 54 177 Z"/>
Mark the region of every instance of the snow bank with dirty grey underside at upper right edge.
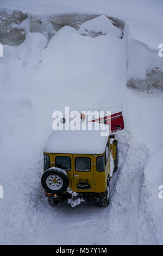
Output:
<path fill-rule="evenodd" d="M 163 92 L 163 58 L 159 51 L 131 38 L 130 31 L 128 34 L 127 86 L 150 94 Z"/>

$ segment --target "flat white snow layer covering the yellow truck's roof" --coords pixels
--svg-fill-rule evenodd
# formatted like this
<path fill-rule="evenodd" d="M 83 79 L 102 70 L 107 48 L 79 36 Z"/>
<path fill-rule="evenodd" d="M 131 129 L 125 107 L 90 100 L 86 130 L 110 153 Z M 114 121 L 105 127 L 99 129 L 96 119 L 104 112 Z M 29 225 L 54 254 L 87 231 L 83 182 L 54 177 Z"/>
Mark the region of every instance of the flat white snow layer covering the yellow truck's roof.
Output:
<path fill-rule="evenodd" d="M 106 126 L 104 124 L 101 125 Z M 98 131 L 53 131 L 45 144 L 44 152 L 61 154 L 102 154 L 105 151 L 108 136 L 101 136 L 101 132 L 103 131 L 100 129 Z"/>

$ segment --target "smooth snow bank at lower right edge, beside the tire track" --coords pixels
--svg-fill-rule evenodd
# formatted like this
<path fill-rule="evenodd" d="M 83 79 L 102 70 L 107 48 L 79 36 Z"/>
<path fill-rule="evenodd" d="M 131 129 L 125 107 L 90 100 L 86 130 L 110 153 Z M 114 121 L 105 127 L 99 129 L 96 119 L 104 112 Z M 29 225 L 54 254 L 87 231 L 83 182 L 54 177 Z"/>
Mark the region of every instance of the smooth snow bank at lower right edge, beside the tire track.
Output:
<path fill-rule="evenodd" d="M 144 200 L 143 214 L 146 216 L 148 229 L 152 230 L 153 239 L 156 244 L 162 245 L 162 215 L 163 215 L 163 146 L 158 147 L 148 157 L 145 167 L 145 181 L 142 189 Z M 143 221 L 142 221 L 143 222 Z M 142 223 L 142 230 L 144 224 Z M 145 234 L 146 236 L 146 234 Z"/>

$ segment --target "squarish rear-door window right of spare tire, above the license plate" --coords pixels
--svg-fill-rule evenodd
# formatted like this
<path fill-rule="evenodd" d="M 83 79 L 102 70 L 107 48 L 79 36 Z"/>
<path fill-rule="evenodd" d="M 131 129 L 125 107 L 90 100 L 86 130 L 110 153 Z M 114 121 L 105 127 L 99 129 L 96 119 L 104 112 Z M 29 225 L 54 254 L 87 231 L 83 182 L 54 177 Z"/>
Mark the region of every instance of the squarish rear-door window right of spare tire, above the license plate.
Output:
<path fill-rule="evenodd" d="M 91 159 L 90 157 L 76 157 L 75 165 L 78 172 L 89 172 L 91 170 Z"/>

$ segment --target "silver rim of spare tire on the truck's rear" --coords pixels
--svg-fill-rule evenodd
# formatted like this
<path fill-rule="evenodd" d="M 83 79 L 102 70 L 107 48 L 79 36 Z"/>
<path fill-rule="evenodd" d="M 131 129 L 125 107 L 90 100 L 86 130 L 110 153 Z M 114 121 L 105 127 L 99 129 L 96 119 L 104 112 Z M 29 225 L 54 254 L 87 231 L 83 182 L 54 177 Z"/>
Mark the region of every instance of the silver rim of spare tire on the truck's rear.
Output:
<path fill-rule="evenodd" d="M 58 175 L 50 175 L 48 176 L 48 178 L 46 179 L 46 185 L 48 186 L 48 188 L 50 188 L 51 190 L 60 190 L 60 188 L 63 185 L 63 181 L 60 178 L 60 176 Z"/>

